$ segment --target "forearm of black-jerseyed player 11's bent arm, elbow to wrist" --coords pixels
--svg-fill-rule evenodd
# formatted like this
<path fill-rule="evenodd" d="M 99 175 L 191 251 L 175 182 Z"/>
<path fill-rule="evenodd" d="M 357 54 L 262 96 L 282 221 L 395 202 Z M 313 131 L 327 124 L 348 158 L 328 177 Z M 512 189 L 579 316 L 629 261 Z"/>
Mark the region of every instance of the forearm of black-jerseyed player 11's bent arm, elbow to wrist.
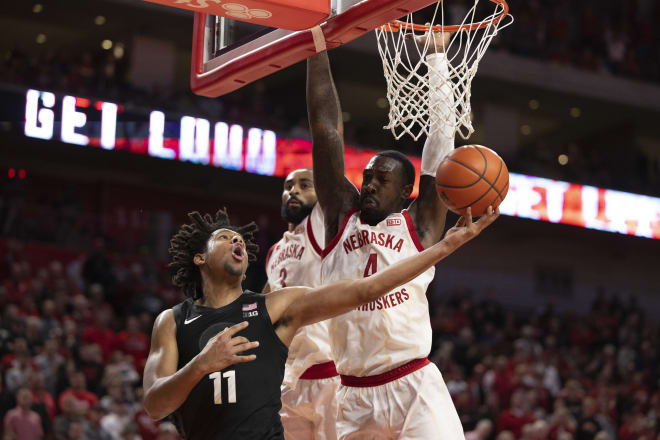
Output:
<path fill-rule="evenodd" d="M 144 409 L 154 420 L 161 420 L 172 414 L 188 398 L 192 389 L 204 378 L 206 371 L 197 358 L 193 358 L 171 376 L 156 379 L 151 386 L 145 386 Z"/>

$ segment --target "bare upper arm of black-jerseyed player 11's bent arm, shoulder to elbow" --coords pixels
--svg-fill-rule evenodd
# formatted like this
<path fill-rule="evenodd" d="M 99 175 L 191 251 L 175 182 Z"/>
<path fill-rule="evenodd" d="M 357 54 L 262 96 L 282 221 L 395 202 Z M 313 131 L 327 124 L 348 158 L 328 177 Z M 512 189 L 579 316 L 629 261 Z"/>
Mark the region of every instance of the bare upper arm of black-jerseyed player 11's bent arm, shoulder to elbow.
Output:
<path fill-rule="evenodd" d="M 144 367 L 143 386 L 145 392 L 158 379 L 176 373 L 179 362 L 179 350 L 176 344 L 176 323 L 174 312 L 169 309 L 156 318 L 151 336 L 149 357 Z"/>

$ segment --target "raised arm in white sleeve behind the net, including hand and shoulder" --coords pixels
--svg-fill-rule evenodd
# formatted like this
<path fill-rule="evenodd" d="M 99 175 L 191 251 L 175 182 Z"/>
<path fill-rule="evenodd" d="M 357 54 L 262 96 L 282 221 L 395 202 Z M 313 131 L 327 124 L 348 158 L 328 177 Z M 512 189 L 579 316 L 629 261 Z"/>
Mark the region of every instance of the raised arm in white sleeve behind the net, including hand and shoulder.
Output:
<path fill-rule="evenodd" d="M 431 120 L 432 134 L 426 138 L 422 152 L 422 170 L 419 179 L 419 196 L 408 209 L 417 235 L 424 248 L 428 248 L 442 238 L 447 218 L 447 207 L 438 197 L 435 188 L 435 173 L 444 157 L 454 149 L 454 114 L 453 84 L 449 79 L 449 63 L 445 49 L 449 45 L 451 34 L 434 33 L 419 35 L 415 43 L 423 47 L 429 44 L 426 62 L 429 64 L 430 106 L 442 115 Z"/>

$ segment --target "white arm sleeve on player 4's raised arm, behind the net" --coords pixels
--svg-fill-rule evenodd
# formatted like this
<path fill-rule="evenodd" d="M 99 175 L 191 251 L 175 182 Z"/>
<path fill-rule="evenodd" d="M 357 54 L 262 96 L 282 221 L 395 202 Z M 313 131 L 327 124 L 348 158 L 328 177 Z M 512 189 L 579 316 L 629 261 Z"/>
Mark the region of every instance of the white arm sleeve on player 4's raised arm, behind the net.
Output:
<path fill-rule="evenodd" d="M 435 176 L 442 159 L 454 149 L 456 113 L 447 57 L 444 53 L 432 53 L 426 56 L 426 61 L 429 66 L 431 134 L 426 138 L 422 151 L 422 175 Z"/>

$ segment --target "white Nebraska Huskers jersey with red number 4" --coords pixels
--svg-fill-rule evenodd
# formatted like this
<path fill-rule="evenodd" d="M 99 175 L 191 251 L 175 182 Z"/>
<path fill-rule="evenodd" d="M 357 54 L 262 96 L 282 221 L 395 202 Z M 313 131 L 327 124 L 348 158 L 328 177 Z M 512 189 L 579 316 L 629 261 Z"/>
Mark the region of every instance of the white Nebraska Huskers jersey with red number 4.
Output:
<path fill-rule="evenodd" d="M 422 250 L 408 211 L 370 226 L 360 221 L 354 208 L 325 249 L 323 284 L 368 277 Z M 340 374 L 373 376 L 428 356 L 426 288 L 434 275 L 431 267 L 376 301 L 329 320 L 332 356 Z"/>

